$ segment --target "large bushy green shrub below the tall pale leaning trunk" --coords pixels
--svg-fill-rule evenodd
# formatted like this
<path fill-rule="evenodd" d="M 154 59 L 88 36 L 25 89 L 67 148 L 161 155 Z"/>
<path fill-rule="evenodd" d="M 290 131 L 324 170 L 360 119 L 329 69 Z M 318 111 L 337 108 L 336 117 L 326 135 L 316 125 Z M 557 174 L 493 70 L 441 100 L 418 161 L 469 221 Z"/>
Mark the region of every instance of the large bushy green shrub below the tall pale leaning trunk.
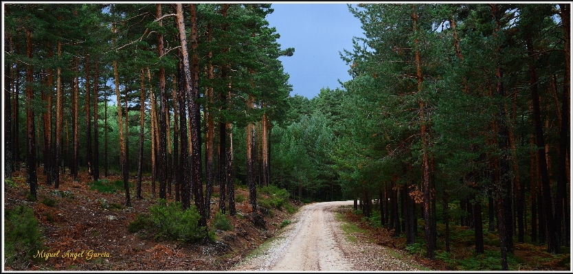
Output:
<path fill-rule="evenodd" d="M 169 238 L 183 242 L 197 242 L 208 236 L 207 231 L 199 227 L 201 216 L 194 205 L 183 211 L 181 202 L 168 204 L 165 199 L 159 199 L 157 204 L 149 208 L 149 212 L 151 212 L 156 239 Z"/>

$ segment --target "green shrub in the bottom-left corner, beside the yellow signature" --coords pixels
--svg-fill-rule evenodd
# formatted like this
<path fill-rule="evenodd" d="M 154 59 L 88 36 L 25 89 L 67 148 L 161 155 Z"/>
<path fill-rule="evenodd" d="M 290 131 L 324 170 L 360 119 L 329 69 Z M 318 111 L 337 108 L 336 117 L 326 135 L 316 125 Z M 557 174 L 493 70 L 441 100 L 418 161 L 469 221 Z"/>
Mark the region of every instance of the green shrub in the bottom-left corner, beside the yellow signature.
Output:
<path fill-rule="evenodd" d="M 23 205 L 4 212 L 4 262 L 12 269 L 23 269 L 30 260 L 41 252 L 43 246 L 42 231 L 34 211 Z M 37 256 L 36 256 L 37 257 Z"/>

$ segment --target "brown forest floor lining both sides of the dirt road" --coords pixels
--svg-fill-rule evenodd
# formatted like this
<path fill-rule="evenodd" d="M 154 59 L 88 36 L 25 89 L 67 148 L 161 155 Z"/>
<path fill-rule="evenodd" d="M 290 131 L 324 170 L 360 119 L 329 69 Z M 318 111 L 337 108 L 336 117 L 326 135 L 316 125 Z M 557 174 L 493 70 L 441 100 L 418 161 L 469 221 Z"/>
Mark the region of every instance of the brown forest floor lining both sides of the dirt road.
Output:
<path fill-rule="evenodd" d="M 275 236 L 287 233 L 289 227 L 295 227 L 300 213 L 289 214 L 287 210 L 272 210 L 265 217 L 265 227 L 254 225 L 248 218 L 251 214 L 248 199 L 236 203 L 241 216 L 229 217 L 234 229 L 216 230 L 215 242 L 187 244 L 172 240 L 155 240 L 140 233 L 130 233 L 128 225 L 139 214 L 148 214 L 155 205 L 151 198 L 150 178 L 142 184 L 141 200 L 133 196 L 132 207 L 125 207 L 123 191 L 115 193 L 98 192 L 89 187 L 91 178 L 80 172 L 79 181 L 74 182 L 69 175 L 60 179 L 60 187 L 46 186 L 41 170 L 38 170 L 37 201 L 30 201 L 30 187 L 25 183 L 25 172 L 14 172 L 11 183 L 4 183 L 4 210 L 19 205 L 31 207 L 34 216 L 40 222 L 43 231 L 45 252 L 55 253 L 57 257 L 46 260 L 20 260 L 20 264 L 5 264 L 4 271 L 229 271 L 243 262 L 251 253 L 265 242 L 273 242 Z M 109 176 L 108 181 L 120 180 L 118 176 Z M 130 183 L 135 184 L 135 179 Z M 157 188 L 159 188 L 157 186 Z M 215 193 L 218 193 L 215 187 Z M 244 186 L 236 186 L 236 196 L 248 197 Z M 174 198 L 168 196 L 168 201 Z M 45 201 L 55 201 L 47 205 Z M 214 216 L 218 209 L 218 198 L 211 200 Z M 291 205 L 296 205 L 291 201 Z M 484 229 L 484 247 L 486 254 L 473 253 L 473 230 L 469 227 L 451 225 L 451 253 L 445 253 L 444 228 L 438 224 L 438 251 L 436 260 L 424 257 L 423 231 L 418 229 L 416 244 L 406 247 L 404 238 L 395 238 L 391 232 L 372 225 L 352 210 L 351 206 L 328 209 L 342 223 L 344 237 L 337 230 L 335 238 L 340 242 L 345 238 L 350 245 L 342 244 L 341 251 L 345 260 L 352 261 L 355 271 L 398 270 L 389 269 L 381 260 L 380 254 L 394 256 L 394 262 L 405 262 L 414 269 L 424 271 L 497 271 L 499 270 L 499 238 L 495 233 Z M 210 218 L 208 226 L 212 227 Z M 291 225 L 282 228 L 287 220 Z M 332 220 L 332 219 L 330 219 Z M 418 227 L 420 224 L 418 224 Z M 267 241 L 269 240 L 269 241 Z M 570 250 L 563 247 L 564 254 L 551 255 L 546 252 L 546 244 L 517 243 L 515 255 L 510 257 L 510 270 L 513 271 L 570 271 Z M 38 252 L 40 252 L 38 250 Z M 82 253 L 83 252 L 83 253 Z M 74 259 L 66 254 L 77 253 Z M 97 257 L 96 257 L 97 255 Z M 91 256 L 91 257 L 90 257 Z M 5 258 L 4 258 L 5 260 Z M 5 261 L 4 261 L 5 262 Z"/>

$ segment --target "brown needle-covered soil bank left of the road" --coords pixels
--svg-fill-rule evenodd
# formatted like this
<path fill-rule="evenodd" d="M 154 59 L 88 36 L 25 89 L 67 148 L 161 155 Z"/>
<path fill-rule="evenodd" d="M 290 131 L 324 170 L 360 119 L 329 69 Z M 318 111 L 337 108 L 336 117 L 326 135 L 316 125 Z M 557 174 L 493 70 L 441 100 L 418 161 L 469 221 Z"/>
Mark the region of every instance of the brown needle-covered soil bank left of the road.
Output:
<path fill-rule="evenodd" d="M 106 178 L 108 181 L 119 179 L 117 176 Z M 236 187 L 236 196 L 246 198 L 242 203 L 236 203 L 237 212 L 245 218 L 229 217 L 234 229 L 217 230 L 216 242 L 186 244 L 156 241 L 153 237 L 128 232 L 129 222 L 138 214 L 149 213 L 149 207 L 155 203 L 150 195 L 150 178 L 144 178 L 142 183 L 142 200 L 135 199 L 135 191 L 131 190 L 131 208 L 125 207 L 124 192 L 100 193 L 91 190 L 87 185 L 91 178 L 85 173 L 80 174 L 79 183 L 64 175 L 59 187 L 60 195 L 64 195 L 60 197 L 53 186 L 45 185 L 45 177 L 38 170 L 40 186 L 36 202 L 27 199 L 30 187 L 25 183 L 25 172 L 14 172 L 12 181 L 16 187 L 5 184 L 5 209 L 18 205 L 32 207 L 43 227 L 45 252 L 60 253 L 43 262 L 28 262 L 27 265 L 18 266 L 18 269 L 5 266 L 5 271 L 225 271 L 267 238 L 274 236 L 282 220 L 290 216 L 286 210 L 274 209 L 265 217 L 265 227 L 255 226 L 252 218 L 249 218 L 252 213 L 248 205 L 249 193 L 245 187 Z M 130 182 L 135 184 L 136 179 L 130 179 Z M 217 187 L 215 193 L 218 193 Z M 41 201 L 45 198 L 56 200 L 56 205 L 44 205 Z M 102 199 L 111 205 L 109 209 L 100 207 Z M 168 196 L 168 201 L 173 200 L 174 196 Z M 214 216 L 218 209 L 218 198 L 212 198 L 211 203 L 210 216 Z M 117 205 L 121 205 L 121 208 L 113 209 Z M 210 222 L 212 218 L 208 221 L 209 227 Z M 74 260 L 66 253 L 80 255 Z"/>

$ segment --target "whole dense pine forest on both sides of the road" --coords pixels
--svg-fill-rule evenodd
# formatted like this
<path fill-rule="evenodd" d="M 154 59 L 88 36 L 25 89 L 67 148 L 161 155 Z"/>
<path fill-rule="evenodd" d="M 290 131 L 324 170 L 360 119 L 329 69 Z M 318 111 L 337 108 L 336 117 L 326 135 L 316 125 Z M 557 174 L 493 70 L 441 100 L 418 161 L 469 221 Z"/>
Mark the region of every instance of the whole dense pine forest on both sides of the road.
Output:
<path fill-rule="evenodd" d="M 570 248 L 570 4 L 358 4 L 352 80 L 291 96 L 271 4 L 5 3 L 5 178 L 121 174 L 206 226 L 234 187 L 355 200 L 395 236 L 436 226 Z M 24 126 L 25 125 L 25 126 Z M 44 172 L 46 181 L 38 181 Z M 135 190 L 128 181 L 135 182 Z M 157 188 L 156 190 L 156 182 Z"/>

